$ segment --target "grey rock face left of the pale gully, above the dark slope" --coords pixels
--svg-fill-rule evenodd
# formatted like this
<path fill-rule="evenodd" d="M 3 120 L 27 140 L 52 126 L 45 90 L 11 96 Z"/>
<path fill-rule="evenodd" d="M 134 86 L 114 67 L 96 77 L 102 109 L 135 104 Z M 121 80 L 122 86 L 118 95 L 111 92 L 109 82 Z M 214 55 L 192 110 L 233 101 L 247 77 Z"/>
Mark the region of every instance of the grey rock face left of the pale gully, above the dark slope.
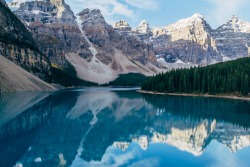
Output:
<path fill-rule="evenodd" d="M 66 54 L 90 54 L 74 13 L 64 0 L 13 1 L 10 7 L 18 8 L 14 13 L 26 22 L 39 49 L 56 66 L 69 66 Z"/>

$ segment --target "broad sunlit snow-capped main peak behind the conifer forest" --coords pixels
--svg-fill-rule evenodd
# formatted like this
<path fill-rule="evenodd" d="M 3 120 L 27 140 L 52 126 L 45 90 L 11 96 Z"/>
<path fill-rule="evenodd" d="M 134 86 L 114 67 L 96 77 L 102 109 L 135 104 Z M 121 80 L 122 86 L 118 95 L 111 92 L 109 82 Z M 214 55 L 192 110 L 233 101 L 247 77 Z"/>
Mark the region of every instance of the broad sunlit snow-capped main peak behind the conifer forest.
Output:
<path fill-rule="evenodd" d="M 155 53 L 167 62 L 211 64 L 222 61 L 211 36 L 212 29 L 200 14 L 194 14 L 163 29 L 155 29 Z"/>

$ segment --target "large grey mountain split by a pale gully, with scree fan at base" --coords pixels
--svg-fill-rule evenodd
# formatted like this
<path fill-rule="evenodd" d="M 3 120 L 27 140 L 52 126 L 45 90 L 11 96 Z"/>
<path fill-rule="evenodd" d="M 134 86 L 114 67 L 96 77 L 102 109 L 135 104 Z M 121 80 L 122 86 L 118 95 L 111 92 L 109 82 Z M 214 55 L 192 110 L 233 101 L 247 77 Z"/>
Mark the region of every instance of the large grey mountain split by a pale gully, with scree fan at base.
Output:
<path fill-rule="evenodd" d="M 9 6 L 52 66 L 82 80 L 101 84 L 123 73 L 161 71 L 152 45 L 116 33 L 100 10 L 85 9 L 75 17 L 64 0 L 14 0 Z"/>

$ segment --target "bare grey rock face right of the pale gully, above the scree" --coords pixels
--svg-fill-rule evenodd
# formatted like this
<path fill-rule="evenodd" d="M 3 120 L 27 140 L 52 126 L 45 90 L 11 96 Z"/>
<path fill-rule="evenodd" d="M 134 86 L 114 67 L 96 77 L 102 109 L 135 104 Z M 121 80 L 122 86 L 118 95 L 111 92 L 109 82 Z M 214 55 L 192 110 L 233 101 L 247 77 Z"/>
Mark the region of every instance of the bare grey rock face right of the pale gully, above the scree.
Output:
<path fill-rule="evenodd" d="M 112 56 L 114 55 L 114 49 L 119 49 L 134 61 L 139 61 L 142 64 L 146 64 L 148 61 L 153 64 L 156 63 L 155 55 L 149 45 L 136 40 L 132 36 L 124 37 L 117 34 L 114 28 L 106 23 L 100 10 L 86 9 L 78 15 L 82 20 L 82 29 L 88 39 L 98 46 L 99 50 L 104 51 L 102 56 L 98 56 L 99 58 L 105 57 L 105 53 Z M 118 23 L 118 26 L 121 29 L 129 29 L 129 25 L 123 21 L 120 22 L 120 25 Z M 127 28 L 122 28 L 124 26 Z"/>

